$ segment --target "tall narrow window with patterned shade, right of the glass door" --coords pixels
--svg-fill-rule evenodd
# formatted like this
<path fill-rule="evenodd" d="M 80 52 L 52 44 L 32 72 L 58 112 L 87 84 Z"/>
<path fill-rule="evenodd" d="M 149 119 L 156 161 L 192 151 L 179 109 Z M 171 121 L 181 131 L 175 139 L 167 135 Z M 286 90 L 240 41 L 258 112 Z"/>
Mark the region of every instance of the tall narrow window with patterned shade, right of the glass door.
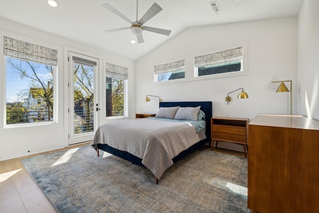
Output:
<path fill-rule="evenodd" d="M 124 116 L 128 68 L 106 63 L 106 117 Z"/>

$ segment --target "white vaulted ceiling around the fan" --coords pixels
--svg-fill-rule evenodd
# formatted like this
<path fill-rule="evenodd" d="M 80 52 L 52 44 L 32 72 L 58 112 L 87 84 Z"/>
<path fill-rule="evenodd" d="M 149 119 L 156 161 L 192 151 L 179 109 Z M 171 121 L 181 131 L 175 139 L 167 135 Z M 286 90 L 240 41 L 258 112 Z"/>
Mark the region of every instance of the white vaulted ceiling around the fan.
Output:
<path fill-rule="evenodd" d="M 216 1 L 220 12 L 211 9 Z M 102 4 L 109 3 L 132 21 L 136 19 L 136 0 L 0 0 L 0 16 L 81 43 L 102 48 L 137 60 L 182 30 L 201 25 L 297 16 L 303 0 L 139 0 L 139 14 L 157 2 L 163 10 L 145 25 L 170 29 L 169 36 L 143 32 L 145 42 L 136 40 L 129 29 L 113 33 L 107 29 L 130 26 Z"/>

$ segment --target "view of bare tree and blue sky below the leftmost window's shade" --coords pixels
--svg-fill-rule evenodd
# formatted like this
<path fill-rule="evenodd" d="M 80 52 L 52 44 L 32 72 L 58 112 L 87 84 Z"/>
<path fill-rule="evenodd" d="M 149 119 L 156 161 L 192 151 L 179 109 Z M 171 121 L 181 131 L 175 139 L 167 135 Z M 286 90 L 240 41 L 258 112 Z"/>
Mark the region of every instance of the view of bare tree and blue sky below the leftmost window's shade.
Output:
<path fill-rule="evenodd" d="M 53 121 L 54 69 L 6 57 L 6 124 Z"/>

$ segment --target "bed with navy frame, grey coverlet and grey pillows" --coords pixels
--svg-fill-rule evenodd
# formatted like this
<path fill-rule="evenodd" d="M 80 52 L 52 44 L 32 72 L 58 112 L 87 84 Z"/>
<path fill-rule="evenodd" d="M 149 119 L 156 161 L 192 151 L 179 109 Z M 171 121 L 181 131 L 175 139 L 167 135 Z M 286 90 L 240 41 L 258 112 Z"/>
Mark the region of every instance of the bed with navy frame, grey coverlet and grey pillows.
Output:
<path fill-rule="evenodd" d="M 202 121 L 188 121 L 185 110 L 187 113 L 194 112 L 199 107 L 204 113 L 202 117 L 197 111 L 198 118 Z M 174 116 L 178 120 L 165 119 L 168 110 L 169 112 L 175 110 Z M 166 117 L 160 116 L 163 112 L 166 113 Z M 212 102 L 160 102 L 157 117 L 159 118 L 131 119 L 103 124 L 95 133 L 91 145 L 98 155 L 99 150 L 103 150 L 148 168 L 156 177 L 158 184 L 163 172 L 174 162 L 203 144 L 210 143 Z M 194 115 L 190 117 L 193 118 Z M 202 125 L 206 128 L 202 129 Z M 140 129 L 143 129 L 143 132 Z"/>

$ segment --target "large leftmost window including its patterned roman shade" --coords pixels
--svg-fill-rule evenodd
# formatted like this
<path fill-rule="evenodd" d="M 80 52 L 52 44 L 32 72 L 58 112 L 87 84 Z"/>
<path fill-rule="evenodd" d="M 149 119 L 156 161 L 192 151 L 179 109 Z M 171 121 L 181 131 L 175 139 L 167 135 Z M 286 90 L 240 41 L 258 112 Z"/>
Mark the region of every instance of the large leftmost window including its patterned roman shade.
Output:
<path fill-rule="evenodd" d="M 57 50 L 3 37 L 6 124 L 54 120 Z"/>

